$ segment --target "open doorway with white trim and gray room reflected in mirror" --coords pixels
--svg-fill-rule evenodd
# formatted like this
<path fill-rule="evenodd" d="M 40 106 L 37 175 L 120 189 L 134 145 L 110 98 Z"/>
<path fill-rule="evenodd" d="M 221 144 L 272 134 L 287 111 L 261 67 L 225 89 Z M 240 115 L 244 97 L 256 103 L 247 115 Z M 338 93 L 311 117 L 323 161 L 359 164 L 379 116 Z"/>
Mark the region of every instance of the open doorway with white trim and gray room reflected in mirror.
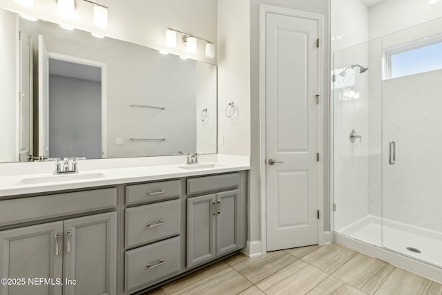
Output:
<path fill-rule="evenodd" d="M 39 156 L 105 158 L 106 64 L 50 53 L 39 39 Z"/>

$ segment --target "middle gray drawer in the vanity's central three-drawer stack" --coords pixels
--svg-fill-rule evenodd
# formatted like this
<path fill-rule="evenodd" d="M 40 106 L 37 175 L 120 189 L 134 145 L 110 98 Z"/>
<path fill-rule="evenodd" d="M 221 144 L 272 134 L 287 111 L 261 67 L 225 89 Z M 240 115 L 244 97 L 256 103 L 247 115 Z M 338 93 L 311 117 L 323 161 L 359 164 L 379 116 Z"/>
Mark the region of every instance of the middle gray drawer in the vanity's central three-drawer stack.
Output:
<path fill-rule="evenodd" d="M 171 200 L 126 209 L 126 248 L 180 234 L 180 204 Z"/>

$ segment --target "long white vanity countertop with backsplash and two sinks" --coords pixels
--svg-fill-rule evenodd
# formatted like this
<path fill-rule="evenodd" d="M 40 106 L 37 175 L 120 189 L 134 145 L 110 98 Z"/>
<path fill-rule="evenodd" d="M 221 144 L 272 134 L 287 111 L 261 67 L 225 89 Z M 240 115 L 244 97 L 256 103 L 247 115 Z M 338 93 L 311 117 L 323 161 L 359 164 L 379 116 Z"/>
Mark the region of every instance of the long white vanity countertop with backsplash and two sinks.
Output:
<path fill-rule="evenodd" d="M 165 158 L 165 157 L 162 157 Z M 79 162 L 79 174 L 91 175 L 95 173 L 102 173 L 102 177 L 81 179 L 81 180 L 68 180 L 68 181 L 56 181 L 37 184 L 18 184 L 22 180 L 30 178 L 62 178 L 60 175 L 52 175 L 52 171 L 48 172 L 48 168 L 52 169 L 53 163 L 44 163 L 41 166 L 40 171 L 36 171 L 35 166 L 32 166 L 32 173 L 27 173 L 27 169 L 30 165 L 37 165 L 37 163 L 15 163 L 15 165 L 21 165 L 19 170 L 10 170 L 10 174 L 7 174 L 5 169 L 10 169 L 10 165 L 13 164 L 0 164 L 0 197 L 4 196 L 16 196 L 28 193 L 42 193 L 46 191 L 60 191 L 66 189 L 80 189 L 87 187 L 100 187 L 113 184 L 122 184 L 130 182 L 145 182 L 151 180 L 165 180 L 169 178 L 183 178 L 195 175 L 205 175 L 213 173 L 226 173 L 233 171 L 242 171 L 250 169 L 249 157 L 238 155 L 202 155 L 200 156 L 200 165 L 204 164 L 216 164 L 213 168 L 202 168 L 186 170 L 180 168 L 184 166 L 182 157 L 175 157 L 173 159 L 166 159 L 166 164 L 160 164 L 160 158 L 143 158 L 140 160 L 140 165 L 136 165 L 136 159 L 126 160 L 118 159 L 113 160 L 99 160 L 99 162 Z M 93 160 L 90 160 L 93 161 Z M 109 162 L 110 161 L 110 162 Z M 88 162 L 86 164 L 86 162 Z M 171 162 L 175 162 L 171 164 Z M 111 163 L 111 164 L 110 164 Z M 28 166 L 25 166 L 28 165 Z M 2 165 L 9 165 L 3 166 Z M 81 169 L 84 166 L 84 169 Z M 99 169 L 99 166 L 105 168 Z M 17 167 L 17 166 L 14 166 Z M 3 171 L 2 171 L 3 168 Z M 75 174 L 77 175 L 77 174 Z"/>

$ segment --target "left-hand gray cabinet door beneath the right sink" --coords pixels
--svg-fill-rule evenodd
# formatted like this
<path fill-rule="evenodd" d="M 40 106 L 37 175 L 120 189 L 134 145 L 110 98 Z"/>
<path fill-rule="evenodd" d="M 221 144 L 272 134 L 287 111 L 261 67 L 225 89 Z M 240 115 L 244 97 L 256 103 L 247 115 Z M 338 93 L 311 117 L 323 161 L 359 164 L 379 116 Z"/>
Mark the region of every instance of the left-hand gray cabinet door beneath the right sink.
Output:
<path fill-rule="evenodd" d="M 188 268 L 215 257 L 215 210 L 215 194 L 187 199 Z"/>

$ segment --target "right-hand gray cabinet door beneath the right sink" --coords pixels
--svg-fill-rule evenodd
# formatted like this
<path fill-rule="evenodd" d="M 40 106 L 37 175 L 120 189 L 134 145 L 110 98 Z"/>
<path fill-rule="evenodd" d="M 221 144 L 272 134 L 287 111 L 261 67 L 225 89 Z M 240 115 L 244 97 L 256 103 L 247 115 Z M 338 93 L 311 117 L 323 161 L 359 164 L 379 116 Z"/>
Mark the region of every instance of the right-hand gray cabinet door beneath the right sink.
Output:
<path fill-rule="evenodd" d="M 227 254 L 240 245 L 239 190 L 216 194 L 216 255 Z"/>

